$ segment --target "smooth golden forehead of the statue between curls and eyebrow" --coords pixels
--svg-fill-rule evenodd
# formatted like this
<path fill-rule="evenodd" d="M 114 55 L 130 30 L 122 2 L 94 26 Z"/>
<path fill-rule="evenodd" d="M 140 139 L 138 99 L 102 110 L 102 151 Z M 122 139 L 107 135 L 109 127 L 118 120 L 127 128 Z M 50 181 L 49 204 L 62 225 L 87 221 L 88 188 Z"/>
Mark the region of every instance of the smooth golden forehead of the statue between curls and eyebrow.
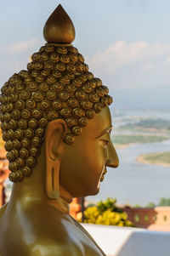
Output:
<path fill-rule="evenodd" d="M 111 112 L 108 106 L 100 111 L 88 125 L 83 128 L 82 134 L 99 137 L 106 129 L 111 128 Z"/>

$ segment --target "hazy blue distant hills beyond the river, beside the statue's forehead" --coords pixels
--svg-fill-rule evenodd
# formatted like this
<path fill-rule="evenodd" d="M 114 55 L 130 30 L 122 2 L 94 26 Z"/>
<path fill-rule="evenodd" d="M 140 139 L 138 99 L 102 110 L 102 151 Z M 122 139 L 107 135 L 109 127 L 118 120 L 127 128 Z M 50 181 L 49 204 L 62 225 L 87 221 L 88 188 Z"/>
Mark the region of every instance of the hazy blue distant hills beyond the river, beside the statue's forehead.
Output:
<path fill-rule="evenodd" d="M 116 109 L 170 110 L 170 85 L 111 92 Z"/>

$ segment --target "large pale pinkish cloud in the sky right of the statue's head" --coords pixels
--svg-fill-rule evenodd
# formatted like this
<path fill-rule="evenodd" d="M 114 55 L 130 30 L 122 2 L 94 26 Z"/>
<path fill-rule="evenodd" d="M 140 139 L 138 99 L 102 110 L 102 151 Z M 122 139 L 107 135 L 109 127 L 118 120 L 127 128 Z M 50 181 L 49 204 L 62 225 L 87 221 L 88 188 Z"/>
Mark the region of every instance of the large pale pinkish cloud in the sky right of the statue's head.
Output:
<path fill-rule="evenodd" d="M 117 41 L 105 51 L 88 58 L 88 64 L 94 70 L 103 70 L 106 74 L 113 74 L 125 65 L 148 62 L 144 70 L 151 68 L 151 62 L 156 58 L 166 57 L 170 54 L 170 43 L 146 43 L 143 41 L 127 43 Z"/>

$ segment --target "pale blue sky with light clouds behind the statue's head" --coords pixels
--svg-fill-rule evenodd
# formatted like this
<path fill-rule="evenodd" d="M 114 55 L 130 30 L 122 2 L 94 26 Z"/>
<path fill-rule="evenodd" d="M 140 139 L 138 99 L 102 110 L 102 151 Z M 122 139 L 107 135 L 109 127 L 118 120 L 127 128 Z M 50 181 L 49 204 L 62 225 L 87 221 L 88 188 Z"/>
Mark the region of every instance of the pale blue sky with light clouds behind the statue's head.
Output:
<path fill-rule="evenodd" d="M 59 3 L 76 28 L 73 45 L 111 92 L 170 86 L 169 0 L 1 0 L 1 86 L 45 43 Z"/>

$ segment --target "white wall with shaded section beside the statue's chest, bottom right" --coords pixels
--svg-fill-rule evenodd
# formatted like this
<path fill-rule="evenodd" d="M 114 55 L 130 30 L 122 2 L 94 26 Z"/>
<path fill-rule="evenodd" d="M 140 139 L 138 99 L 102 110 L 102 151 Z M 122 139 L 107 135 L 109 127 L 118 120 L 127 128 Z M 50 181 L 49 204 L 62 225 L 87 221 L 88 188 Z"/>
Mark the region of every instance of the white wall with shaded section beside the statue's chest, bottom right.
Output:
<path fill-rule="evenodd" d="M 88 233 L 111 256 L 169 256 L 170 232 L 82 224 Z"/>

